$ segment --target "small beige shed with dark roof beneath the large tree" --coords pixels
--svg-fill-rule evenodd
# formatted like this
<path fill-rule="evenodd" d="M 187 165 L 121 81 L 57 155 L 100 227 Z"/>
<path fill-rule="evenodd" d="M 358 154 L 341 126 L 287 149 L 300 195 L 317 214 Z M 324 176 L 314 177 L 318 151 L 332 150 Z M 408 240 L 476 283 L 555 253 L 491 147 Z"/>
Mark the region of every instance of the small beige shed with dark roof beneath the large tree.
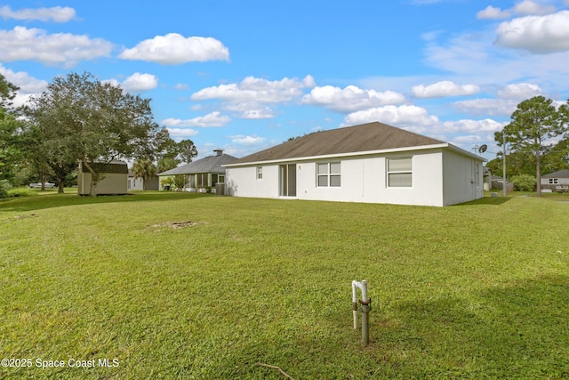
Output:
<path fill-rule="evenodd" d="M 101 173 L 102 178 L 97 183 L 97 195 L 122 195 L 127 192 L 128 166 L 123 161 L 111 161 L 108 164 L 93 162 L 93 169 Z M 91 193 L 91 173 L 79 163 L 77 172 L 77 194 L 89 195 Z"/>

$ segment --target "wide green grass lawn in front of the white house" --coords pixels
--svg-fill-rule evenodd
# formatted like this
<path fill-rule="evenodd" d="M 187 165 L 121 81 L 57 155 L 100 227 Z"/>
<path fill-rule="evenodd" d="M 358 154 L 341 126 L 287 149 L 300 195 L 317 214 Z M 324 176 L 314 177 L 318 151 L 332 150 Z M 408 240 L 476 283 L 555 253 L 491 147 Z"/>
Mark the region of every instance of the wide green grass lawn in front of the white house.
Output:
<path fill-rule="evenodd" d="M 567 201 L 4 200 L 0 378 L 567 378 Z"/>

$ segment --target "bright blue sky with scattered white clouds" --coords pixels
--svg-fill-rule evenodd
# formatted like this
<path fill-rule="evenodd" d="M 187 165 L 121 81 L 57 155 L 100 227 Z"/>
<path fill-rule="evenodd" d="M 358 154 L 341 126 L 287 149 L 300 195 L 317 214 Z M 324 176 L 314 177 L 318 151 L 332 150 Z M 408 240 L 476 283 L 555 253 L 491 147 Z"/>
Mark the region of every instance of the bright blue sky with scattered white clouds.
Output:
<path fill-rule="evenodd" d="M 0 0 L 16 104 L 91 73 L 198 158 L 380 121 L 482 156 L 520 101 L 569 99 L 569 0 Z"/>

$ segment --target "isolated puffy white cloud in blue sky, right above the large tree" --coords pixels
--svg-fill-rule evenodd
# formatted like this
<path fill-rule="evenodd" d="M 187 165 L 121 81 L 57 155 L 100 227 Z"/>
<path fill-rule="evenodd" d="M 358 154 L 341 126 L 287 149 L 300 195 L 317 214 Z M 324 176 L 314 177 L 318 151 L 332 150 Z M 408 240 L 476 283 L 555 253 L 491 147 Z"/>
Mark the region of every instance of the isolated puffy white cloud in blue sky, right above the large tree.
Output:
<path fill-rule="evenodd" d="M 212 37 L 184 37 L 177 33 L 169 33 L 144 40 L 131 49 L 125 49 L 118 57 L 124 60 L 175 65 L 193 61 L 228 61 L 229 50 Z"/>

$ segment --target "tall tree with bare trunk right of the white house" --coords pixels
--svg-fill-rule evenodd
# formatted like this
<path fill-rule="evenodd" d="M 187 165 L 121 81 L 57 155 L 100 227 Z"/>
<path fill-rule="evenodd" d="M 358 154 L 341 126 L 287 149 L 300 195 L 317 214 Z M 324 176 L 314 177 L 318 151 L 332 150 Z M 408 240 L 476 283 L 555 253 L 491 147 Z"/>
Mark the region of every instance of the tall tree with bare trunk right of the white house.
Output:
<path fill-rule="evenodd" d="M 560 112 L 550 99 L 535 96 L 522 101 L 511 116 L 512 121 L 502 132 L 494 133 L 494 139 L 502 145 L 502 136 L 510 144 L 512 152 L 521 155 L 532 155 L 535 159 L 535 178 L 541 183 L 541 157 L 547 150 L 546 141 L 565 132 L 565 123 Z M 541 186 L 537 187 L 537 195 L 541 196 Z"/>

